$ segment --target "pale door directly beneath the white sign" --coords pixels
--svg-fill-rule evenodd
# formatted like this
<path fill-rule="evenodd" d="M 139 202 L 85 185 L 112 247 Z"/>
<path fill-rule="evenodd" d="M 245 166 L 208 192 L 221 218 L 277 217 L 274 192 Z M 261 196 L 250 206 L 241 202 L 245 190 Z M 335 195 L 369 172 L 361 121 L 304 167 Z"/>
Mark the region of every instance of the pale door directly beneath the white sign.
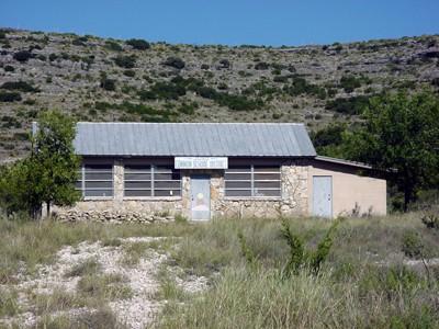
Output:
<path fill-rule="evenodd" d="M 191 219 L 211 218 L 211 177 L 191 175 Z"/>

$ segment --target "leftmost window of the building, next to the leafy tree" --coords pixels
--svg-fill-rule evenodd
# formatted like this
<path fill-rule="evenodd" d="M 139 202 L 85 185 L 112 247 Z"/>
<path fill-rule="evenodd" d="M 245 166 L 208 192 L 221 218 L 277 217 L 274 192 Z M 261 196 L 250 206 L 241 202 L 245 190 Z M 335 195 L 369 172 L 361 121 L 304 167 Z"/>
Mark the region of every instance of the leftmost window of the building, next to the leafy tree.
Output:
<path fill-rule="evenodd" d="M 113 196 L 113 164 L 82 164 L 77 190 L 83 196 Z"/>

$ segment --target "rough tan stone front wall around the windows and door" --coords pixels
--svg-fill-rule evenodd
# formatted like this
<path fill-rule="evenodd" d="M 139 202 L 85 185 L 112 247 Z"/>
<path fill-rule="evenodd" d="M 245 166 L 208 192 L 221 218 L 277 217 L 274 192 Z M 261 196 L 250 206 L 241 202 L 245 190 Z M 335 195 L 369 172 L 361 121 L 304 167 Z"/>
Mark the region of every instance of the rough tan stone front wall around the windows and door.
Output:
<path fill-rule="evenodd" d="M 54 211 L 60 220 L 95 222 L 164 222 L 176 215 L 191 216 L 191 180 L 193 173 L 211 177 L 211 217 L 256 216 L 277 217 L 279 214 L 307 214 L 308 167 L 300 161 L 285 161 L 281 167 L 282 195 L 280 197 L 226 197 L 224 170 L 182 170 L 181 196 L 123 197 L 123 162 L 114 161 L 114 196 L 90 198 L 74 208 Z"/>

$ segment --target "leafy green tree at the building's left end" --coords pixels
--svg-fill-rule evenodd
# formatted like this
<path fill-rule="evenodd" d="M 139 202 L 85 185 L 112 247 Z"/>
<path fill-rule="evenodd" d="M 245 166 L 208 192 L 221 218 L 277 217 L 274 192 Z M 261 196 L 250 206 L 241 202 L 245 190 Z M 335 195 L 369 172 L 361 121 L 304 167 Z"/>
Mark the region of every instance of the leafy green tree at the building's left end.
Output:
<path fill-rule="evenodd" d="M 5 169 L 0 195 L 8 212 L 25 211 L 37 215 L 45 203 L 71 205 L 80 200 L 75 190 L 80 157 L 75 154 L 75 122 L 59 110 L 43 112 L 32 138 L 31 155 Z"/>

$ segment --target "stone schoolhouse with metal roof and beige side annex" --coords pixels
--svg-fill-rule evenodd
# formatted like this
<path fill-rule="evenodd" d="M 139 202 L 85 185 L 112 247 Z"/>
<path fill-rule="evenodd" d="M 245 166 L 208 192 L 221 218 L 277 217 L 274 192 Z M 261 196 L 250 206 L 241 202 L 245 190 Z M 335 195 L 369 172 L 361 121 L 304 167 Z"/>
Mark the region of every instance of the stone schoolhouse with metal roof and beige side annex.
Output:
<path fill-rule="evenodd" d="M 83 201 L 67 219 L 385 214 L 385 181 L 317 157 L 302 124 L 79 123 L 75 148 Z"/>

